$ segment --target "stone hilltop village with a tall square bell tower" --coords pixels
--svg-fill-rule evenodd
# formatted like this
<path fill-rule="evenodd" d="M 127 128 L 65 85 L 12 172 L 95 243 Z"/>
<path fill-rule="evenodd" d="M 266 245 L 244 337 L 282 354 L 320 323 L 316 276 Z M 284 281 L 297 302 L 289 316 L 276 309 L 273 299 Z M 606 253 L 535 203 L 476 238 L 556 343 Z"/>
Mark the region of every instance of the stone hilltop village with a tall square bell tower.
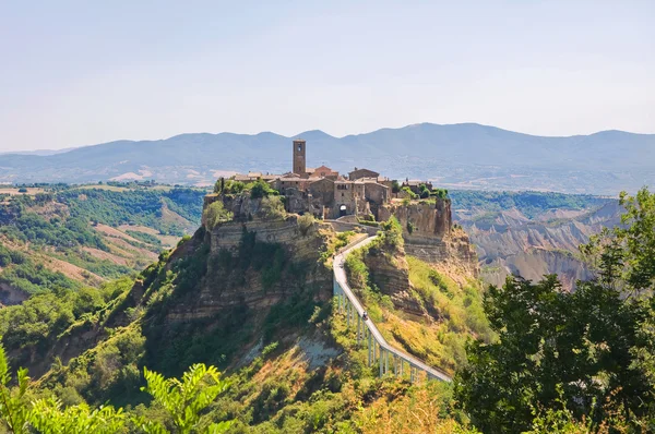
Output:
<path fill-rule="evenodd" d="M 393 198 L 429 197 L 429 181 L 410 181 L 402 184 L 380 176 L 374 170 L 355 168 L 347 176 L 326 166 L 307 167 L 307 143 L 293 142 L 293 170 L 284 174 L 250 172 L 231 179 L 240 182 L 263 180 L 285 196 L 288 213 L 312 214 L 320 219 L 344 216 L 380 219 L 380 208 Z"/>

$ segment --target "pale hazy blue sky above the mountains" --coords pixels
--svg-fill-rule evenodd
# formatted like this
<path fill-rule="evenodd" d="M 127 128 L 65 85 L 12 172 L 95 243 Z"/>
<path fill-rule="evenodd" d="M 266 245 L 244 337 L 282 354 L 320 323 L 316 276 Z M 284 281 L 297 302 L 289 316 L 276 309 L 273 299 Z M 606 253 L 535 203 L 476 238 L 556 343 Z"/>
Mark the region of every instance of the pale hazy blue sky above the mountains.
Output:
<path fill-rule="evenodd" d="M 655 1 L 0 0 L 0 152 L 418 122 L 655 133 Z"/>

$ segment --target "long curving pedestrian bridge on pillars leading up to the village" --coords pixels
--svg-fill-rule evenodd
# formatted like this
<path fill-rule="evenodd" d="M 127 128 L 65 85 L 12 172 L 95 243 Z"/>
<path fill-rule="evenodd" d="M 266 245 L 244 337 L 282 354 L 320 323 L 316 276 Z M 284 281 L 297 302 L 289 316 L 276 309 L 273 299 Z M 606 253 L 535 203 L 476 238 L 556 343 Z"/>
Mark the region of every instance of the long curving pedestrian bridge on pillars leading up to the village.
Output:
<path fill-rule="evenodd" d="M 364 248 L 376 238 L 377 236 L 357 240 L 334 256 L 334 297 L 337 298 L 337 312 L 346 316 L 348 327 L 357 327 L 357 343 L 364 341 L 367 345 L 369 366 L 376 362 L 380 363 L 380 376 L 386 374 L 403 376 L 407 369 L 412 383 L 421 379 L 451 382 L 452 378 L 441 370 L 429 366 L 418 358 L 389 345 L 371 318 L 364 318 L 365 309 L 348 286 L 344 263 L 350 252 Z"/>

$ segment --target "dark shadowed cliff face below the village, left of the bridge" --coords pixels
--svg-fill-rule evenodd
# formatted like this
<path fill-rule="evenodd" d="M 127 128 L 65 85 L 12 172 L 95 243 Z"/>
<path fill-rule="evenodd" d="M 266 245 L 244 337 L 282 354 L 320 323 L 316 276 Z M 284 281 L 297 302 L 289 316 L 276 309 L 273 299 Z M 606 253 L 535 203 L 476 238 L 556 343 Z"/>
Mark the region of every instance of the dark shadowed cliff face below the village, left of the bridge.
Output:
<path fill-rule="evenodd" d="M 176 306 L 168 317 L 174 321 L 202 318 L 226 309 L 261 312 L 296 291 L 308 289 L 315 290 L 319 299 L 327 300 L 332 297 L 332 274 L 320 262 L 325 231 L 331 232 L 331 226 L 314 222 L 301 228 L 295 215 L 277 221 L 253 219 L 216 226 L 205 234 L 204 243 L 209 243 L 210 253 L 207 272 L 199 290 L 188 302 Z M 261 269 L 237 270 L 225 266 L 225 261 L 238 257 L 245 233 L 250 233 L 254 243 L 282 248 L 283 253 L 276 254 L 284 257 L 265 261 L 284 263 L 279 278 L 270 287 L 263 284 Z"/>

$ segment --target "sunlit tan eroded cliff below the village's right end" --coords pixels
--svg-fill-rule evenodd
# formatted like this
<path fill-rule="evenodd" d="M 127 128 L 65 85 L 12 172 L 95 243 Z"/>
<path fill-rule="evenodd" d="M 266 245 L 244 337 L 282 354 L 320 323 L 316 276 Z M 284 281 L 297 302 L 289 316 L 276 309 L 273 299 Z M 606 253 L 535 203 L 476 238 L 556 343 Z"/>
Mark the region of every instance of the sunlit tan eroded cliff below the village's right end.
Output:
<path fill-rule="evenodd" d="M 438 198 L 404 205 L 394 202 L 380 207 L 380 219 L 395 216 L 403 227 L 405 251 L 431 264 L 451 264 L 473 277 L 479 274 L 475 248 L 461 228 L 452 226 L 451 201 Z"/>

